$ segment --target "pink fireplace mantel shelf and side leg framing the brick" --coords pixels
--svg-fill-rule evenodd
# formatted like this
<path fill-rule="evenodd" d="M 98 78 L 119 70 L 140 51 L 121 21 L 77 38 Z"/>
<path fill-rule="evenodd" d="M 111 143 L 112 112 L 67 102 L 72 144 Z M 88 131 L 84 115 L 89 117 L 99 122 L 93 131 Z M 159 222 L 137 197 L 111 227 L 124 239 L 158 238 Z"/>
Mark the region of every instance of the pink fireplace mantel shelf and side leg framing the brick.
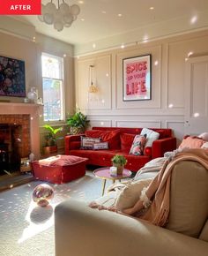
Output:
<path fill-rule="evenodd" d="M 39 119 L 42 105 L 19 102 L 0 102 L 0 115 L 29 115 L 31 152 L 40 158 Z"/>

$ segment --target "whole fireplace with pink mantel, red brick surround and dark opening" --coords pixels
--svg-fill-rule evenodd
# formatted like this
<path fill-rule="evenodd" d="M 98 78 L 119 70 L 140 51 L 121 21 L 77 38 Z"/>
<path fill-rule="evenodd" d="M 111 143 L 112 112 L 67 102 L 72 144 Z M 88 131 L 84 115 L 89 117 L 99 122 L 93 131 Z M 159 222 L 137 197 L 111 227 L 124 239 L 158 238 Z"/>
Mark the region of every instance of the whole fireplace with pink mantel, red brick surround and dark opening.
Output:
<path fill-rule="evenodd" d="M 40 158 L 40 105 L 0 102 L 0 175 L 19 170 L 21 158 Z"/>

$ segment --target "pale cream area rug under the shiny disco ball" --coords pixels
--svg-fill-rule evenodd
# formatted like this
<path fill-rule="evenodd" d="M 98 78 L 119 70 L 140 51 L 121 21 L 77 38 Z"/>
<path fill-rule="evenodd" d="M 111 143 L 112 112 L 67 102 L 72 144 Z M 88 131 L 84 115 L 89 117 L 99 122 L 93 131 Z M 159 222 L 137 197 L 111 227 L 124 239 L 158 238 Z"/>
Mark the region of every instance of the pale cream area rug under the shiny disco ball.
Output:
<path fill-rule="evenodd" d="M 33 189 L 45 182 L 33 181 L 0 192 L 0 255 L 54 256 L 54 209 L 63 200 L 91 201 L 101 196 L 102 180 L 87 171 L 68 184 L 50 184 L 55 197 L 48 207 L 33 202 Z M 108 181 L 108 185 L 111 184 Z"/>

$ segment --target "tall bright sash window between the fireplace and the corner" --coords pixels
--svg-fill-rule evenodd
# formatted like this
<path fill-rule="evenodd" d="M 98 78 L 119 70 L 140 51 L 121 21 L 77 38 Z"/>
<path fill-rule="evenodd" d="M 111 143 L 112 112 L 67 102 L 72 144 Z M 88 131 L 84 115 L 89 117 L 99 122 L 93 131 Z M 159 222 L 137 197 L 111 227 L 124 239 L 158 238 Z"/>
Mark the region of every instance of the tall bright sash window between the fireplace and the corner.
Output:
<path fill-rule="evenodd" d="M 63 58 L 42 53 L 44 121 L 63 120 Z"/>

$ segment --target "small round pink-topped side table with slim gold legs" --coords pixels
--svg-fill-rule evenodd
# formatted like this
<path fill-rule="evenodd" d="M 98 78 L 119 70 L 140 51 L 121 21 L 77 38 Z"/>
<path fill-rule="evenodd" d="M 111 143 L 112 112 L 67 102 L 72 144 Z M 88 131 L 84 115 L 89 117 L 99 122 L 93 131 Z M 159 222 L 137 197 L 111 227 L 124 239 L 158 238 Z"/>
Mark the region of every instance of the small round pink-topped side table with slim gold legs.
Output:
<path fill-rule="evenodd" d="M 99 177 L 103 179 L 103 185 L 102 185 L 102 196 L 103 196 L 105 192 L 107 179 L 111 179 L 113 183 L 115 183 L 115 180 L 119 180 L 121 182 L 121 179 L 131 176 L 131 171 L 129 169 L 123 169 L 123 174 L 113 176 L 110 174 L 109 167 L 103 167 L 103 168 L 95 169 L 93 171 L 93 174 L 95 177 Z"/>

